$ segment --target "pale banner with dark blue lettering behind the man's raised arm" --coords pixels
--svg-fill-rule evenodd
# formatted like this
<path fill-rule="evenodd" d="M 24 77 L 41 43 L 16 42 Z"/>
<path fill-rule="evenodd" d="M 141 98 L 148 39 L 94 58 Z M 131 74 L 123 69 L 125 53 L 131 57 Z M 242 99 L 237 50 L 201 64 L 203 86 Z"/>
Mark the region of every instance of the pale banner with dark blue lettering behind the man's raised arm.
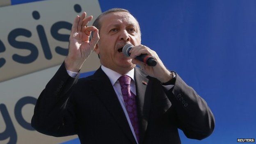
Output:
<path fill-rule="evenodd" d="M 73 19 L 101 14 L 97 0 L 45 0 L 0 7 L 0 143 L 58 144 L 30 126 L 34 103 L 67 54 Z M 89 23 L 91 25 L 92 23 Z M 82 72 L 100 66 L 93 53 Z"/>

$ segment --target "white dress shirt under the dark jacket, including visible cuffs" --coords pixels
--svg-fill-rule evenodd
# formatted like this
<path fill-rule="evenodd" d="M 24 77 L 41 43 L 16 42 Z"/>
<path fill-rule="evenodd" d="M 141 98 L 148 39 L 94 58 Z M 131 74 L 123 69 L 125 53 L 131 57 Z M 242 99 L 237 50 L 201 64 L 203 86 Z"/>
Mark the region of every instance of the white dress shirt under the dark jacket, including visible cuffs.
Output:
<path fill-rule="evenodd" d="M 126 110 L 126 105 L 123 101 L 123 95 L 122 95 L 122 91 L 121 91 L 121 85 L 119 83 L 119 78 L 122 76 L 121 74 L 117 73 L 116 71 L 113 71 L 111 69 L 108 69 L 107 67 L 101 65 L 101 69 L 104 71 L 104 73 L 107 75 L 107 77 L 110 79 L 110 82 L 114 88 L 114 91 L 116 92 L 117 94 L 117 98 L 118 98 L 118 101 L 119 103 L 121 104 L 121 107 L 123 108 L 123 112 L 126 116 L 126 119 L 128 121 L 128 124 L 130 126 L 130 129 L 133 133 L 133 137 L 135 138 L 137 144 L 138 144 L 138 141 L 137 141 L 137 137 L 135 135 L 135 132 L 133 130 L 133 125 L 132 123 L 130 122 L 130 118 L 129 118 L 129 115 L 128 115 L 128 112 Z M 75 78 L 76 75 L 78 73 L 76 72 L 73 72 L 73 71 L 69 71 L 67 70 L 67 73 L 69 74 L 69 76 L 71 76 L 72 78 Z M 131 83 L 130 83 L 130 90 L 133 92 L 133 94 L 135 94 L 136 96 L 136 86 L 135 86 L 135 78 L 134 78 L 134 69 L 130 70 L 128 73 L 126 73 L 125 75 L 128 75 L 130 78 L 131 78 Z M 171 89 L 174 85 L 162 85 L 163 87 L 165 87 L 165 89 L 169 90 Z"/>

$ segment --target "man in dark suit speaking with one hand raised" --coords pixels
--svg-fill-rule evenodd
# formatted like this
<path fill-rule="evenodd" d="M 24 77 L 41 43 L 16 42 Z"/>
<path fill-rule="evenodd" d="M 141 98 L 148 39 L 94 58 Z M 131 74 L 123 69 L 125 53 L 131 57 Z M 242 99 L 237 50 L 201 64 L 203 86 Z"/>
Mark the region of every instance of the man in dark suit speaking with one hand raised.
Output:
<path fill-rule="evenodd" d="M 37 100 L 36 130 L 78 135 L 82 144 L 180 144 L 178 128 L 192 139 L 213 132 L 215 120 L 206 102 L 167 70 L 155 51 L 141 45 L 139 24 L 129 11 L 110 9 L 87 26 L 91 19 L 84 12 L 74 20 L 69 54 Z M 130 57 L 121 52 L 128 43 L 134 45 Z M 101 67 L 78 80 L 93 50 Z M 141 54 L 157 65 L 134 59 Z"/>

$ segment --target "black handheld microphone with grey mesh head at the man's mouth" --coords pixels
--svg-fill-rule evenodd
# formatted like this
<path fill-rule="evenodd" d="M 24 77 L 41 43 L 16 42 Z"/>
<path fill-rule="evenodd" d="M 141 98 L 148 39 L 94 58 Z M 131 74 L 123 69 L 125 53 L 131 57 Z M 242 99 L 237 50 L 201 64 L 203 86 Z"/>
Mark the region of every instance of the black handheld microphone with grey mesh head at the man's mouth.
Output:
<path fill-rule="evenodd" d="M 130 50 L 131 48 L 133 48 L 134 46 L 132 44 L 126 44 L 125 46 L 123 46 L 123 55 L 126 55 L 127 57 L 130 57 Z M 155 66 L 156 65 L 156 61 L 153 57 L 147 55 L 147 54 L 141 54 L 139 56 L 137 56 L 135 59 L 143 62 L 144 64 L 147 64 L 148 66 Z"/>

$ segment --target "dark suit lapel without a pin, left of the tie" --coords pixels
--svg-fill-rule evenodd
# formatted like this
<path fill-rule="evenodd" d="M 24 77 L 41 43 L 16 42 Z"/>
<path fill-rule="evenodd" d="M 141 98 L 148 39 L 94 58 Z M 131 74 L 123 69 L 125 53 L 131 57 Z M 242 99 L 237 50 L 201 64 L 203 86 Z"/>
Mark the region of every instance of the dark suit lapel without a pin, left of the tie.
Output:
<path fill-rule="evenodd" d="M 112 114 L 113 118 L 119 124 L 120 128 L 123 130 L 123 133 L 130 139 L 133 144 L 136 144 L 135 138 L 133 137 L 133 133 L 130 130 L 130 126 L 126 119 L 126 116 L 123 112 L 121 104 L 117 98 L 117 95 L 112 87 L 112 84 L 107 77 L 107 75 L 99 68 L 94 73 L 94 90 L 97 93 L 98 98 L 105 105 L 107 110 Z"/>

